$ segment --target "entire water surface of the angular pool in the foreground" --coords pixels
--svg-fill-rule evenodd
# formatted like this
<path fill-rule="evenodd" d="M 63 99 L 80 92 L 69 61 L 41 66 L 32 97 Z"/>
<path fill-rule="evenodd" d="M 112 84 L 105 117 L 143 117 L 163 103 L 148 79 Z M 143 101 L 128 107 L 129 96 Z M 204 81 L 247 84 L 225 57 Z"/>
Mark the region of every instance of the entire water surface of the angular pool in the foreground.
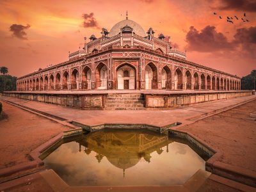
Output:
<path fill-rule="evenodd" d="M 44 163 L 70 186 L 170 186 L 205 170 L 184 142 L 147 130 L 90 132 L 60 145 Z"/>

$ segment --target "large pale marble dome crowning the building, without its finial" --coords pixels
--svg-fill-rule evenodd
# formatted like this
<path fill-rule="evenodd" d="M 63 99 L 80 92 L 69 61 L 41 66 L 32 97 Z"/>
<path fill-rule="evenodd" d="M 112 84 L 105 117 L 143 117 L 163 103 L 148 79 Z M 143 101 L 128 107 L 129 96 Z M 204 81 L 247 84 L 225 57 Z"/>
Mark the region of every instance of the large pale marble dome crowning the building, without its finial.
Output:
<path fill-rule="evenodd" d="M 116 23 L 115 26 L 113 26 L 113 28 L 110 29 L 108 36 L 112 37 L 112 36 L 118 35 L 118 33 L 120 33 L 120 29 L 124 28 L 124 26 L 126 25 L 130 26 L 136 35 L 140 35 L 143 37 L 146 36 L 145 35 L 146 33 L 143 30 L 143 28 L 141 28 L 141 26 L 138 23 L 129 19 L 121 20 L 120 22 Z"/>

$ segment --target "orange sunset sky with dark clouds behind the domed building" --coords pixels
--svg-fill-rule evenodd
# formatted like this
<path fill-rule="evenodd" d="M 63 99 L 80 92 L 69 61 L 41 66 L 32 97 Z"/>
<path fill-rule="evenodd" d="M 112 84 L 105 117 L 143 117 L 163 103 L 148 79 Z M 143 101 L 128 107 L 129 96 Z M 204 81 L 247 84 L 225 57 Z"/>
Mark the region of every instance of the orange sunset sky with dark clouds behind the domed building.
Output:
<path fill-rule="evenodd" d="M 126 10 L 145 31 L 170 36 L 189 61 L 240 77 L 256 69 L 255 0 L 1 0 L 0 67 L 20 77 L 67 61 L 84 36 L 110 31 Z"/>

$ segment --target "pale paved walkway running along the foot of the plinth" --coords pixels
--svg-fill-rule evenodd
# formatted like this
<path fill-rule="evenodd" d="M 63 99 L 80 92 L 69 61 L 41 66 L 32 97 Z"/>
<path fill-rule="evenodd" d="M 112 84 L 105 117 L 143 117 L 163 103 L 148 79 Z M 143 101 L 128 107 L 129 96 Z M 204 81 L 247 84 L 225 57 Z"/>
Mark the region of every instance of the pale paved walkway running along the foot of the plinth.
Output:
<path fill-rule="evenodd" d="M 148 124 L 163 127 L 175 122 L 187 124 L 191 118 L 200 117 L 207 113 L 228 108 L 237 103 L 245 102 L 246 100 L 256 99 L 256 95 L 247 97 L 237 97 L 227 100 L 216 100 L 214 102 L 205 102 L 195 104 L 193 106 L 173 108 L 170 110 L 143 110 L 143 111 L 107 111 L 107 110 L 81 110 L 74 108 L 66 108 L 54 104 L 44 102 L 36 102 L 33 100 L 18 99 L 15 97 L 0 97 L 15 102 L 28 108 L 37 109 L 51 115 L 60 116 L 67 120 L 74 120 L 85 125 L 100 125 L 100 124 Z"/>

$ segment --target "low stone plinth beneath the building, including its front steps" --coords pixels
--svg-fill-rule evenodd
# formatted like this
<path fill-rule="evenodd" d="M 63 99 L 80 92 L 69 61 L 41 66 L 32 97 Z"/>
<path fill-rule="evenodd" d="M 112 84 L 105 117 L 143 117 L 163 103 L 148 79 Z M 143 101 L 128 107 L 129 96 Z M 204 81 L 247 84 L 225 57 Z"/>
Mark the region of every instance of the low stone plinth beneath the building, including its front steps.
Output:
<path fill-rule="evenodd" d="M 213 100 L 252 95 L 252 91 L 95 90 L 63 92 L 3 92 L 1 95 L 79 109 L 168 109 Z"/>

